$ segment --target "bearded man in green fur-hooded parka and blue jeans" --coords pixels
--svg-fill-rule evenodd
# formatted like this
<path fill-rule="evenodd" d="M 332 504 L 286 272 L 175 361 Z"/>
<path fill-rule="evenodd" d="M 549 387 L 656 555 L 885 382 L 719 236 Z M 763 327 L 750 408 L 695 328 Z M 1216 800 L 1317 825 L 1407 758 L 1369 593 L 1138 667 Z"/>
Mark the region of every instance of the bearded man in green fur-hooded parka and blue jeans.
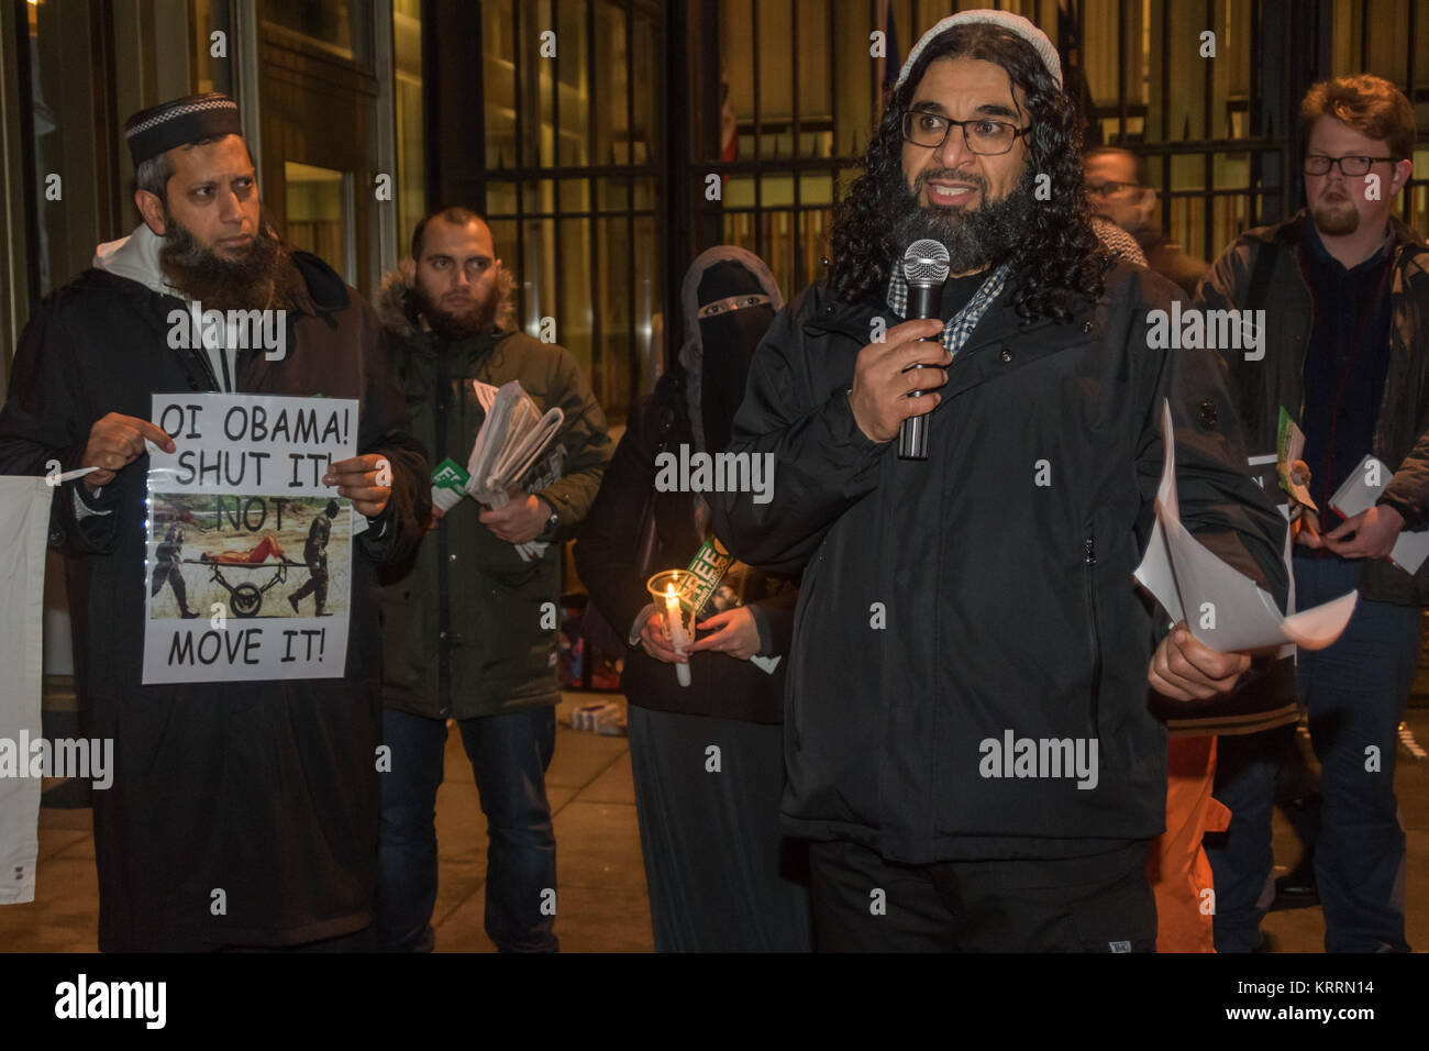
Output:
<path fill-rule="evenodd" d="M 377 927 L 387 951 L 434 944 L 434 806 L 446 721 L 456 719 L 487 819 L 486 932 L 502 951 L 554 951 L 556 839 L 546 766 L 556 742 L 560 541 L 610 459 L 606 418 L 570 352 L 516 332 L 514 280 L 473 212 L 423 219 L 377 313 L 432 463 L 466 468 L 484 419 L 473 380 L 520 380 L 564 423 L 557 462 L 504 508 L 463 498 L 436 512 L 383 576 L 382 844 Z M 517 545 L 546 543 L 527 561 Z"/>

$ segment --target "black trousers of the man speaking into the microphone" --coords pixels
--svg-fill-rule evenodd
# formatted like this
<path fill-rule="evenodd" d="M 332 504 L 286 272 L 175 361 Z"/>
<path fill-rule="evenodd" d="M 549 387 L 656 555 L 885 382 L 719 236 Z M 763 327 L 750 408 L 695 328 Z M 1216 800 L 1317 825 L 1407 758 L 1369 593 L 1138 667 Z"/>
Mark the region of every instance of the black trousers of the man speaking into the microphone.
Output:
<path fill-rule="evenodd" d="M 900 865 L 869 847 L 816 842 L 815 938 L 820 952 L 1155 952 L 1146 848 Z"/>

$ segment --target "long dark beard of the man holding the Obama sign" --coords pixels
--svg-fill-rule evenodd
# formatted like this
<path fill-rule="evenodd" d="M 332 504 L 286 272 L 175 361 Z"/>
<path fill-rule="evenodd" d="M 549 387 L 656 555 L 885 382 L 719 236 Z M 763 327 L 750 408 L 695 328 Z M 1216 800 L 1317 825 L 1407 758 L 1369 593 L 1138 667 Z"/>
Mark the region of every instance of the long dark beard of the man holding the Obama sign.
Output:
<path fill-rule="evenodd" d="M 189 299 L 217 310 L 276 310 L 292 305 L 302 275 L 293 253 L 262 230 L 243 259 L 213 255 L 183 223 L 164 212 L 166 245 L 159 262 L 169 282 Z"/>

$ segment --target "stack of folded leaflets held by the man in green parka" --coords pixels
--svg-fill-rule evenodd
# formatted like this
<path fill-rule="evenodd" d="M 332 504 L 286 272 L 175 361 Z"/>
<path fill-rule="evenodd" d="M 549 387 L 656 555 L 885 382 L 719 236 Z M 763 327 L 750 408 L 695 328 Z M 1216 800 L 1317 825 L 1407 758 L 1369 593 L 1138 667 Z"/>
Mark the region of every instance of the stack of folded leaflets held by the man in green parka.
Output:
<path fill-rule="evenodd" d="M 460 503 L 463 495 L 487 508 L 504 508 L 510 503 L 510 489 L 536 492 L 560 478 L 562 448 L 556 436 L 566 415 L 559 408 L 542 415 L 520 380 L 500 388 L 472 380 L 472 388 L 486 419 L 464 470 L 446 459 L 432 472 L 432 502 L 443 512 Z M 546 546 L 532 541 L 516 545 L 516 551 L 529 562 Z"/>

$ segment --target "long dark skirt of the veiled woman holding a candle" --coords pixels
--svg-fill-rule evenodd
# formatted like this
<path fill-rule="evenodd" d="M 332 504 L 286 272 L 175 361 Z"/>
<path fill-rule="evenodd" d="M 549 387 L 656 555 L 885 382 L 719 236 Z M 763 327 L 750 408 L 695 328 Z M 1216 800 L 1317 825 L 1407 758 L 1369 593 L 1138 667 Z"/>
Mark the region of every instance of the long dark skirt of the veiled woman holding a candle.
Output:
<path fill-rule="evenodd" d="M 637 705 L 629 725 L 656 951 L 807 952 L 807 847 L 779 827 L 783 728 Z"/>

